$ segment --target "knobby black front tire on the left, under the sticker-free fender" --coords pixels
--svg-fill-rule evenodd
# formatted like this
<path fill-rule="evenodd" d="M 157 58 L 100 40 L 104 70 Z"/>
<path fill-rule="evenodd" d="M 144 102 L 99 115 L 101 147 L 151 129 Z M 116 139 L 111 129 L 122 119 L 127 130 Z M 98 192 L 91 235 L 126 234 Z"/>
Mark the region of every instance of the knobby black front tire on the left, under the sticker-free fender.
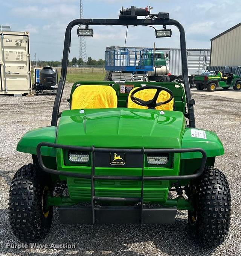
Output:
<path fill-rule="evenodd" d="M 38 164 L 21 167 L 12 179 L 9 191 L 9 221 L 21 241 L 38 241 L 50 230 L 53 207 L 46 209 L 49 175 Z"/>

